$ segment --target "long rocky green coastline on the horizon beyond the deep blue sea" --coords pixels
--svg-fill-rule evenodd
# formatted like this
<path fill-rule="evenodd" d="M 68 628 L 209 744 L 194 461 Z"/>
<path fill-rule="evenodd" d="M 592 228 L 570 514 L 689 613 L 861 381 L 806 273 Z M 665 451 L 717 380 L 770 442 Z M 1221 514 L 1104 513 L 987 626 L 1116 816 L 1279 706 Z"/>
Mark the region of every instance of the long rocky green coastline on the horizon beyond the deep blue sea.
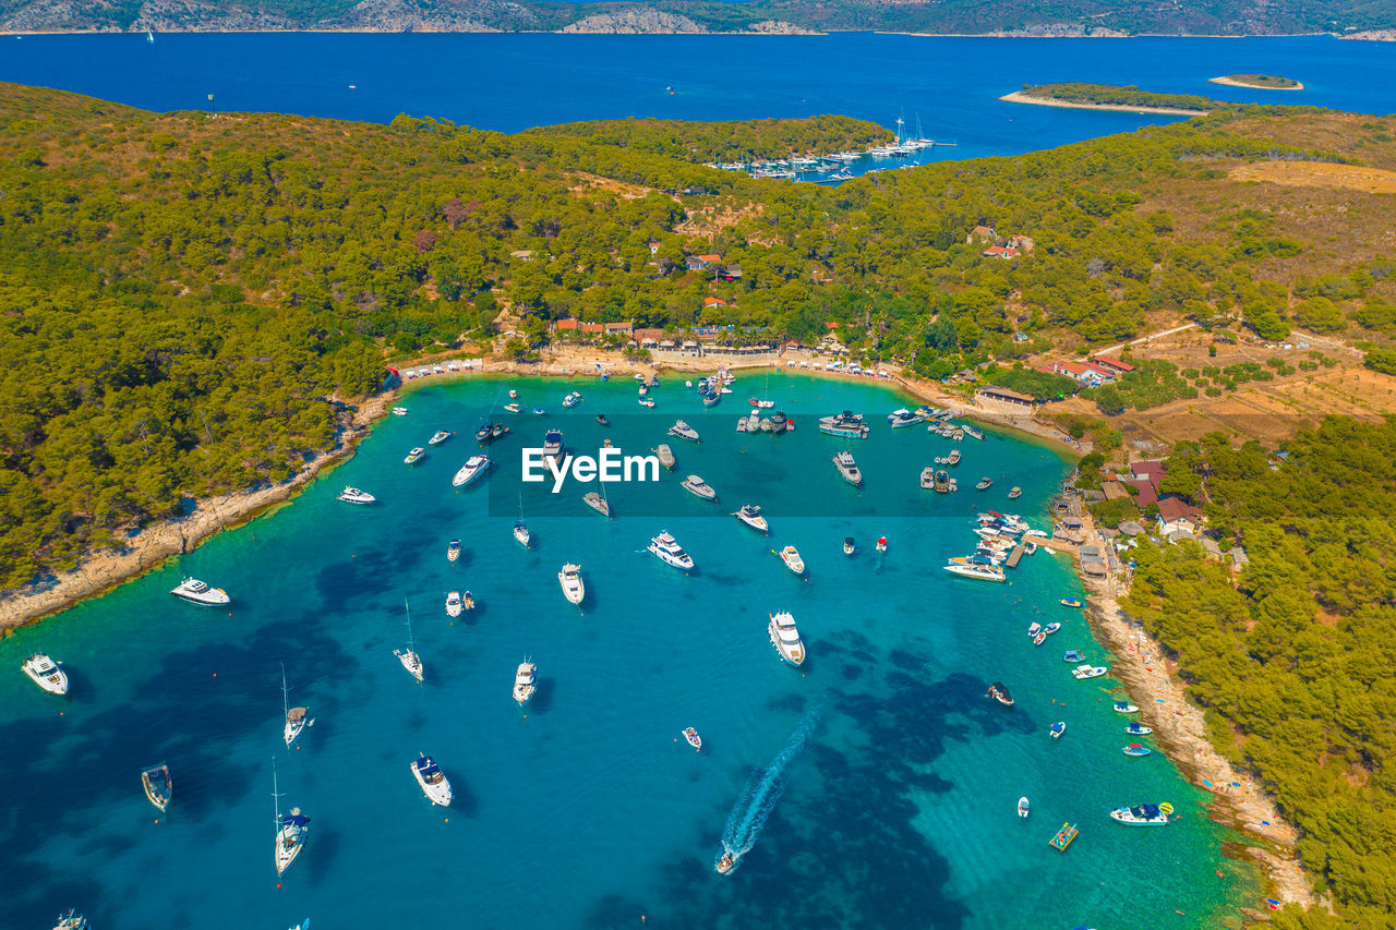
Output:
<path fill-rule="evenodd" d="M 1390 4 L 1336 0 L 1217 0 L 1202 4 L 1110 4 L 1064 0 L 998 4 L 866 3 L 863 0 L 3 0 L 0 32 L 593 32 L 810 34 L 884 31 L 923 35 L 1128 36 L 1301 35 L 1382 36 L 1396 28 Z"/>

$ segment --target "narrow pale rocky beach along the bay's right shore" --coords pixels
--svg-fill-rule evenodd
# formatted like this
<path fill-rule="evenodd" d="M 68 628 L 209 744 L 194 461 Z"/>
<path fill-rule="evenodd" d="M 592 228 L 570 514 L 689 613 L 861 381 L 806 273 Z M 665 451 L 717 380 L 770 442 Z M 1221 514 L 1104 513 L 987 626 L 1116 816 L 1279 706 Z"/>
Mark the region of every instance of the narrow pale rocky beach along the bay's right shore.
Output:
<path fill-rule="evenodd" d="M 1089 518 L 1086 528 L 1087 545 L 1107 545 Z M 1086 617 L 1100 642 L 1114 654 L 1110 672 L 1124 683 L 1129 700 L 1139 708 L 1141 722 L 1153 728 L 1164 754 L 1188 781 L 1212 792 L 1208 807 L 1212 820 L 1261 841 L 1247 846 L 1247 855 L 1263 869 L 1273 896 L 1304 908 L 1318 903 L 1294 850 L 1298 831 L 1284 821 L 1275 799 L 1254 778 L 1238 772 L 1212 747 L 1203 711 L 1188 700 L 1177 665 L 1167 659 L 1157 641 L 1125 620 L 1117 598 L 1128 588 L 1120 580 L 1085 578 L 1085 582 L 1090 592 Z M 1259 919 L 1263 913 L 1255 910 L 1248 916 Z"/>

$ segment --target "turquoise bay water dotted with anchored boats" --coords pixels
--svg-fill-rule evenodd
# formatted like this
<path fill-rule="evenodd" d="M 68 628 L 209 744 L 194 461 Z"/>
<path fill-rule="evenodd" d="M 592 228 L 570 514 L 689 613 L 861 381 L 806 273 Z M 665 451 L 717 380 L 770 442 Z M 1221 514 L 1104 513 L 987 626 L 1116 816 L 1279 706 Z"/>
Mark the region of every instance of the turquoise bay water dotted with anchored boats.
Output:
<path fill-rule="evenodd" d="M 1011 584 L 944 571 L 970 547 L 970 521 L 1005 508 L 1044 525 L 1068 465 L 1004 434 L 966 440 L 959 480 L 938 497 L 917 475 L 951 443 L 924 429 L 892 431 L 882 415 L 905 398 L 870 385 L 787 374 L 744 376 L 704 415 L 670 378 L 644 413 L 630 381 L 476 380 L 410 394 L 348 464 L 290 505 L 212 539 L 117 591 L 0 642 L 0 820 L 4 926 L 49 926 L 59 908 L 101 930 L 286 927 L 1168 927 L 1217 926 L 1217 909 L 1255 899 L 1248 867 L 1223 860 L 1227 834 L 1203 795 L 1159 753 L 1127 758 L 1125 718 L 1111 681 L 1069 677 L 1061 652 L 1103 662 L 1079 613 L 1069 566 L 1046 552 Z M 490 454 L 491 486 L 451 487 L 475 451 L 469 436 L 517 387 L 525 411 Z M 568 390 L 586 401 L 561 416 Z M 793 434 L 733 431 L 748 394 L 769 395 Z M 818 415 L 866 413 L 871 437 L 852 448 L 867 479 L 840 482 L 845 445 Z M 632 415 L 631 411 L 635 411 Z M 603 430 L 595 415 L 616 425 Z M 603 437 L 627 452 L 666 441 L 676 416 L 699 445 L 667 440 L 676 475 L 611 485 L 617 518 L 581 503 L 593 486 L 521 490 L 519 448 L 561 425 L 574 451 Z M 416 468 L 412 445 L 459 430 Z M 720 494 L 705 504 L 678 487 L 697 472 Z M 977 493 L 990 475 L 995 485 Z M 345 485 L 376 493 L 355 508 Z M 532 550 L 511 538 L 522 500 Z M 727 517 L 744 500 L 772 518 L 762 539 Z M 670 529 L 697 560 L 684 575 L 644 553 Z M 859 550 L 843 556 L 840 542 Z M 877 536 L 889 552 L 872 552 Z M 445 559 L 459 536 L 465 553 Z M 794 543 L 808 581 L 771 553 Z M 578 610 L 557 585 L 579 561 Z M 232 610 L 166 592 L 181 573 L 223 586 Z M 450 589 L 479 607 L 452 623 Z M 426 681 L 392 649 L 412 605 Z M 789 609 L 810 658 L 782 665 L 769 612 Z M 1064 630 L 1036 648 L 1032 620 Z M 71 697 L 42 694 L 18 665 L 34 649 L 66 663 Z M 526 711 L 510 695 L 524 656 L 539 666 Z M 317 723 L 281 741 L 285 662 L 292 702 Z M 1004 681 L 1018 705 L 988 701 Z M 1047 728 L 1065 719 L 1051 740 Z M 754 769 L 812 721 L 786 769 L 783 795 L 730 877 L 712 870 L 729 813 Z M 678 735 L 695 726 L 695 754 Z M 455 788 L 433 809 L 408 765 L 434 754 Z M 282 807 L 311 817 L 300 860 L 272 869 L 272 758 Z M 168 761 L 174 800 L 156 824 L 138 772 Z M 1019 820 L 1015 803 L 1032 799 Z M 1131 829 L 1107 818 L 1121 803 L 1170 800 L 1182 818 Z M 1048 848 L 1071 820 L 1081 836 Z M 1222 869 L 1228 878 L 1217 878 Z M 1174 913 L 1182 910 L 1184 916 Z"/>

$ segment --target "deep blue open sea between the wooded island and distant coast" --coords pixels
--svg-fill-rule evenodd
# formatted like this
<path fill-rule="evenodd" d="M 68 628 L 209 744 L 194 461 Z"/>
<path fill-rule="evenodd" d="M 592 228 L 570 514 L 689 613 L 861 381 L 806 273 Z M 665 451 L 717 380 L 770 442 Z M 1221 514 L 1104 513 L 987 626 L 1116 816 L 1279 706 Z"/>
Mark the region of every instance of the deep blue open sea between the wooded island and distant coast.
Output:
<path fill-rule="evenodd" d="M 1293 77 L 1304 91 L 1209 84 Z M 1004 103 L 1023 84 L 1099 81 L 1226 101 L 1392 110 L 1396 47 L 1328 36 L 983 39 L 881 35 L 606 36 L 144 34 L 0 38 L 0 80 L 154 110 L 438 116 L 518 131 L 582 119 L 842 113 L 953 141 L 924 159 L 1013 155 L 1177 117 Z M 350 89 L 353 85 L 356 89 Z M 673 88 L 670 95 L 666 88 Z"/>

